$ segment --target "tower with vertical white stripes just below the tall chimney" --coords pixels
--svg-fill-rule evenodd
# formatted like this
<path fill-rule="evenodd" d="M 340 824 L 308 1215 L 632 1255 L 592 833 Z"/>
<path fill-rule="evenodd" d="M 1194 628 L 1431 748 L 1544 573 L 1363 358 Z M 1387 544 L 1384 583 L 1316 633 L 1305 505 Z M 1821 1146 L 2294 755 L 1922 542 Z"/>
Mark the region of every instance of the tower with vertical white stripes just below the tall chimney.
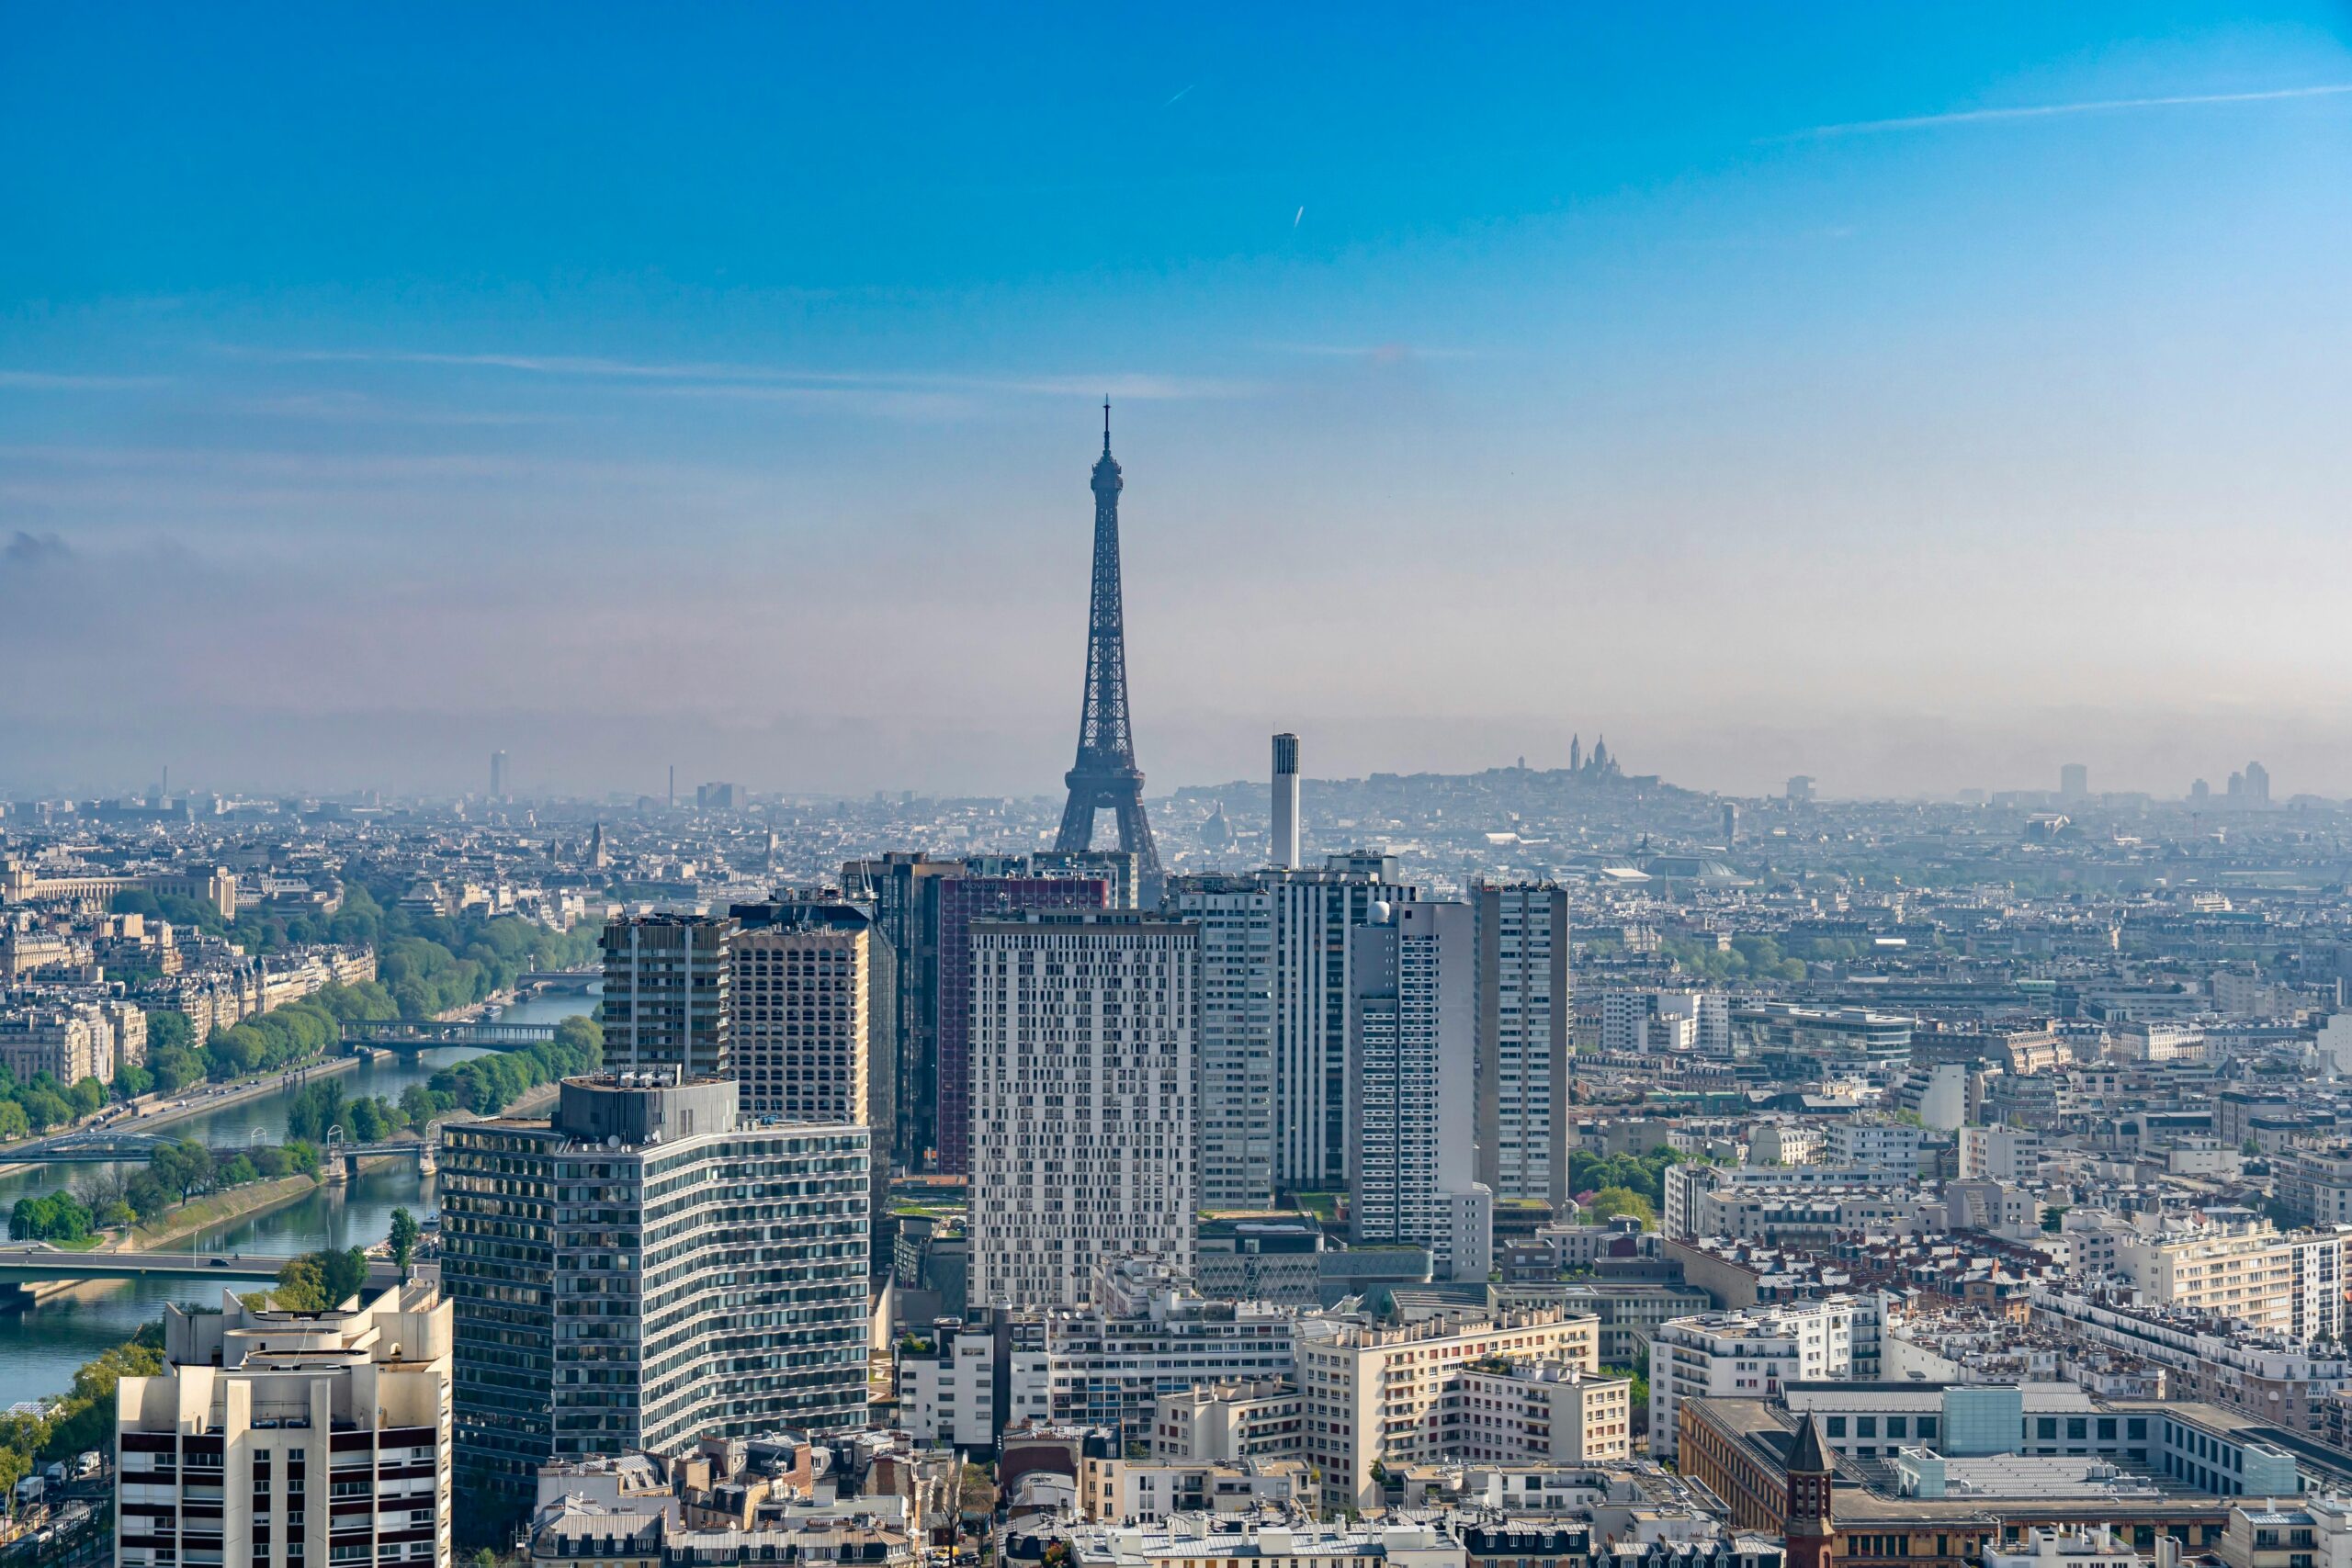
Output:
<path fill-rule="evenodd" d="M 1345 1192 L 1350 1180 L 1350 945 L 1376 903 L 1409 903 L 1395 856 L 1331 856 L 1317 872 L 1268 872 L 1275 900 L 1275 1187 Z"/>

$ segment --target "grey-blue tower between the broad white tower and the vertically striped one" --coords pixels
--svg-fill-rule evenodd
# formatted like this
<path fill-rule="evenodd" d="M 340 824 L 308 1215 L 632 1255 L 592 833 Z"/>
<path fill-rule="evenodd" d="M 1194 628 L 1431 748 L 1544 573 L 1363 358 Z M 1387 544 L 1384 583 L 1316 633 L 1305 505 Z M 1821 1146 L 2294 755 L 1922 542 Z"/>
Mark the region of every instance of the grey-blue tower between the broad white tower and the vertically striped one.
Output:
<path fill-rule="evenodd" d="M 1275 1194 L 1275 896 L 1258 877 L 1171 877 L 1167 912 L 1200 926 L 1200 1201 Z"/>

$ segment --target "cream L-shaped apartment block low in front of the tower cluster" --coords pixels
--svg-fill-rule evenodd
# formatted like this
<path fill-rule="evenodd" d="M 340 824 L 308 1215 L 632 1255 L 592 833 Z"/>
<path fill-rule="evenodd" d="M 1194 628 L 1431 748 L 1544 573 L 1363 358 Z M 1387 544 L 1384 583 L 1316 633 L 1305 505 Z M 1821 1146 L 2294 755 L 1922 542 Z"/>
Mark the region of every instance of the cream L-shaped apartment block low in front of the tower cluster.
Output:
<path fill-rule="evenodd" d="M 1298 1387 L 1305 1396 L 1308 1465 L 1322 1474 L 1322 1507 L 1371 1509 L 1371 1467 L 1451 1458 L 1449 1394 L 1472 1361 L 1550 1361 L 1599 1371 L 1599 1319 L 1510 1312 L 1494 1319 L 1430 1319 L 1364 1328 L 1338 1319 L 1298 1321 Z"/>

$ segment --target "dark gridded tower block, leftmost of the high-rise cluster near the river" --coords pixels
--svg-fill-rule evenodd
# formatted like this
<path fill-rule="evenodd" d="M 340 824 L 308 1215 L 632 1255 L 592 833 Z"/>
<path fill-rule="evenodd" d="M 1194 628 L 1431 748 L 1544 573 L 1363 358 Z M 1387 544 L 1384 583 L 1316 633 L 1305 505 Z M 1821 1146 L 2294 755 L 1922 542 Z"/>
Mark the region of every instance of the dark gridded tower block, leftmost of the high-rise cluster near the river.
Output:
<path fill-rule="evenodd" d="M 727 1077 L 734 929 L 715 914 L 635 914 L 604 926 L 604 1060 L 616 1072 Z"/>

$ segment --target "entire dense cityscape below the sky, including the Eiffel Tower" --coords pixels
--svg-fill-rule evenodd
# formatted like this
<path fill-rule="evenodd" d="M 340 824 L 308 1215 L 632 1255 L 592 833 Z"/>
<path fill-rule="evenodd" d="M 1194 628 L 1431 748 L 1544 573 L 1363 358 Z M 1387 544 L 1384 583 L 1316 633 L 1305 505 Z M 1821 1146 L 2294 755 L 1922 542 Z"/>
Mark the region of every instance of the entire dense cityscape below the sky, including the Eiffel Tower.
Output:
<path fill-rule="evenodd" d="M 9 1549 L 2352 1556 L 2343 802 L 1150 797 L 1122 487 L 1058 811 L 12 802 Z"/>

